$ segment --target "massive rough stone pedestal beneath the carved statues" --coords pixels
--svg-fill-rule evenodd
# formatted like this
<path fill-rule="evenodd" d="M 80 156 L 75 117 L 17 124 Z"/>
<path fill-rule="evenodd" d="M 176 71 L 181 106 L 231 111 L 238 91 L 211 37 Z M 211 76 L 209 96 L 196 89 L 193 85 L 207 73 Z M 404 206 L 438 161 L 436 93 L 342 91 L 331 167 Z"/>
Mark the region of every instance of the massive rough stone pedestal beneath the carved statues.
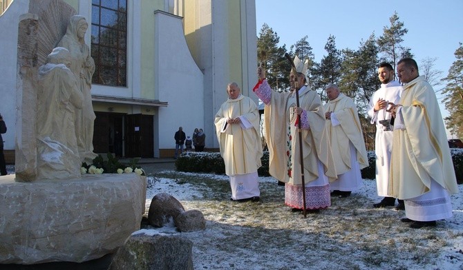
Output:
<path fill-rule="evenodd" d="M 0 264 L 84 262 L 115 252 L 140 229 L 146 187 L 135 173 L 33 183 L 1 176 Z"/>

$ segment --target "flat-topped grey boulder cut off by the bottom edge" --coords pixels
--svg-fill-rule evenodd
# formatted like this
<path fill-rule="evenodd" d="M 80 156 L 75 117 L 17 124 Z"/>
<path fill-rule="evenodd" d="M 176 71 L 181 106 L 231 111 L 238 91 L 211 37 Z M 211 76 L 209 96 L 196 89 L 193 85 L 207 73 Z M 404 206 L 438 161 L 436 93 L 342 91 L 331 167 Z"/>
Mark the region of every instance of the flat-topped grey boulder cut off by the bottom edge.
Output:
<path fill-rule="evenodd" d="M 192 270 L 192 248 L 191 240 L 179 236 L 135 234 L 115 253 L 108 270 Z"/>

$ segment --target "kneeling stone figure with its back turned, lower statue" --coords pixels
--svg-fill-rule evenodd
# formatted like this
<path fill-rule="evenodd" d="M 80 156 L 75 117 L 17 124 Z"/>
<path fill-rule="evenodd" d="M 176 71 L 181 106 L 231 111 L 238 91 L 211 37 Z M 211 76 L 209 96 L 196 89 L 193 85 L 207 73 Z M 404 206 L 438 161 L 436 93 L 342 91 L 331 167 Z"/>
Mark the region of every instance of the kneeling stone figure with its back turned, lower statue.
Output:
<path fill-rule="evenodd" d="M 39 67 L 37 92 L 37 175 L 41 179 L 80 177 L 75 115 L 84 96 L 68 68 L 70 53 L 57 47 Z"/>

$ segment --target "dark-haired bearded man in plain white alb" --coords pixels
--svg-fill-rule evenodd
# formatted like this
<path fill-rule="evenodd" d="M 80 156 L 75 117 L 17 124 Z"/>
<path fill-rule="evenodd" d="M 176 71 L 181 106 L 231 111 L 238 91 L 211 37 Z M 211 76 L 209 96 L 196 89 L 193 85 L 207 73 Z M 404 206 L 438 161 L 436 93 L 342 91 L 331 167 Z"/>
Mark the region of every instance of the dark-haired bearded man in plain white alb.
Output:
<path fill-rule="evenodd" d="M 379 203 L 373 205 L 375 208 L 395 205 L 395 198 L 388 196 L 390 157 L 393 153 L 393 129 L 390 125 L 390 112 L 386 112 L 386 108 L 388 102 L 398 103 L 404 90 L 400 83 L 394 80 L 394 69 L 390 63 L 379 64 L 378 78 L 381 81 L 381 87 L 373 93 L 368 104 L 370 123 L 376 125 L 376 189 L 378 196 L 384 197 Z M 404 210 L 404 200 L 399 200 L 399 205 L 395 209 Z"/>

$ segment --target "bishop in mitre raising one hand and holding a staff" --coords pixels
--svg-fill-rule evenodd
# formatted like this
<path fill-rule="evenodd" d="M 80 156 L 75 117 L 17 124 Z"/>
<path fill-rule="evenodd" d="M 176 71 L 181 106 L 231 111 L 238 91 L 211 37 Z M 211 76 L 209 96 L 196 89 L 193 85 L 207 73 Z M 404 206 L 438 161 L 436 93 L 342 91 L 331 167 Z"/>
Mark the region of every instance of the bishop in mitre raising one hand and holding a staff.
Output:
<path fill-rule="evenodd" d="M 258 68 L 259 81 L 253 90 L 265 103 L 264 124 L 265 139 L 270 152 L 269 172 L 285 183 L 285 205 L 292 207 L 292 211 L 302 210 L 305 189 L 305 209 L 308 213 L 318 213 L 320 209 L 330 207 L 329 183 L 337 175 L 332 166 L 321 98 L 305 85 L 307 63 L 302 63 L 297 56 L 294 58 L 296 74 L 290 74 L 291 92 L 272 91 L 261 67 Z M 299 91 L 299 107 L 296 107 L 296 91 Z M 298 115 L 301 116 L 300 132 Z M 299 140 L 302 140 L 303 149 L 299 147 Z M 305 187 L 302 185 L 301 164 Z"/>

